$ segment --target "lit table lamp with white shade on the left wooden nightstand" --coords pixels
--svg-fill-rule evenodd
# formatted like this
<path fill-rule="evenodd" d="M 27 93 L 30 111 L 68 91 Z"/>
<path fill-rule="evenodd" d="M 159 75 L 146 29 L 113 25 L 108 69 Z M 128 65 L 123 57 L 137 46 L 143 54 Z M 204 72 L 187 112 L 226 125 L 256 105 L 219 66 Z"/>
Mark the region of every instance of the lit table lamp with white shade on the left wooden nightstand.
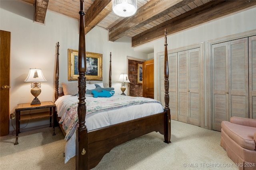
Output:
<path fill-rule="evenodd" d="M 46 79 L 43 76 L 42 70 L 40 68 L 30 68 L 28 77 L 24 80 L 24 82 L 32 82 L 31 83 L 31 94 L 35 97 L 31 102 L 31 105 L 41 104 L 40 100 L 37 98 L 41 93 L 41 83 L 46 82 Z"/>

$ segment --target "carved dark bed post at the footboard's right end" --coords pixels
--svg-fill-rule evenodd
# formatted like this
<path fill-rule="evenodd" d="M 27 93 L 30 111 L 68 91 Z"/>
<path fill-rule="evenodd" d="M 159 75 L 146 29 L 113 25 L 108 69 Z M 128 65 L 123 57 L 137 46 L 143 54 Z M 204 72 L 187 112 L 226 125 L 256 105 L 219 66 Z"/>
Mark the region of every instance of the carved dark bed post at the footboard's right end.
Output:
<path fill-rule="evenodd" d="M 170 143 L 171 139 L 171 115 L 170 115 L 170 108 L 169 108 L 169 66 L 168 66 L 168 53 L 167 53 L 167 31 L 165 29 L 164 33 L 164 89 L 165 89 L 165 94 L 164 94 L 164 102 L 165 102 L 165 107 L 164 111 L 166 111 L 165 115 L 165 127 L 164 127 L 164 142 L 165 143 Z"/>

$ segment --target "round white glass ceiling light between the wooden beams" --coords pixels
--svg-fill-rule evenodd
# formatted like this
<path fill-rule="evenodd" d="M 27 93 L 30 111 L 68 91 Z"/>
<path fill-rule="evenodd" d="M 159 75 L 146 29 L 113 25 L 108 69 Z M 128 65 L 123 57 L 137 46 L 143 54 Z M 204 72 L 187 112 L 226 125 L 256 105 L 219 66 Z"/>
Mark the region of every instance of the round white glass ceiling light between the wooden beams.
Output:
<path fill-rule="evenodd" d="M 113 0 L 113 11 L 120 17 L 129 17 L 136 13 L 137 0 Z"/>

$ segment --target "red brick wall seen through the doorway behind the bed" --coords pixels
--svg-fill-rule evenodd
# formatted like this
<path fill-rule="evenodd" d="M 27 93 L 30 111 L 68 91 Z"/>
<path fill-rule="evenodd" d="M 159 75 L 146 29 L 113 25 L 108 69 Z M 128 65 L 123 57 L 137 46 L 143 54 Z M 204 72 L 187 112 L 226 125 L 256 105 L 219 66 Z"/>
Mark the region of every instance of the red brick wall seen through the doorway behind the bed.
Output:
<path fill-rule="evenodd" d="M 142 61 L 128 60 L 128 78 L 130 80 L 130 96 L 142 97 L 142 84 L 137 84 L 138 64 Z"/>

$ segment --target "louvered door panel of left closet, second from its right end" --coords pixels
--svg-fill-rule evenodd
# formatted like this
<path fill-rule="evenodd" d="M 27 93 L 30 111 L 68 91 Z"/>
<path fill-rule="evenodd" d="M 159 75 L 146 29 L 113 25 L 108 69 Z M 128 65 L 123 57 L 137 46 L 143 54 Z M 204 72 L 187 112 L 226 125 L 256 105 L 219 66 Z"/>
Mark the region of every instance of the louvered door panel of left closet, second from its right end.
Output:
<path fill-rule="evenodd" d="M 188 51 L 178 52 L 178 121 L 188 123 Z"/>

